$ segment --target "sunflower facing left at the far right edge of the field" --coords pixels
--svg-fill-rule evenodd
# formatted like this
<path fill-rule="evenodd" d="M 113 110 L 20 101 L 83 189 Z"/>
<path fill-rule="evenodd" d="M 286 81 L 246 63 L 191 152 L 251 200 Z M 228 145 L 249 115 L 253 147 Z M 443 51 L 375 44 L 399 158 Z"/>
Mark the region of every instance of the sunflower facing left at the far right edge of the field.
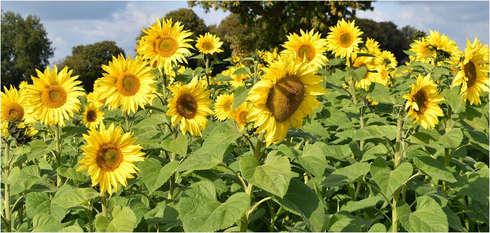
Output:
<path fill-rule="evenodd" d="M 461 97 L 470 104 L 481 103 L 480 93 L 489 92 L 489 69 L 485 67 L 488 49 L 475 38 L 473 44 L 466 39 L 465 59 L 459 64 L 451 87 L 461 85 Z"/>

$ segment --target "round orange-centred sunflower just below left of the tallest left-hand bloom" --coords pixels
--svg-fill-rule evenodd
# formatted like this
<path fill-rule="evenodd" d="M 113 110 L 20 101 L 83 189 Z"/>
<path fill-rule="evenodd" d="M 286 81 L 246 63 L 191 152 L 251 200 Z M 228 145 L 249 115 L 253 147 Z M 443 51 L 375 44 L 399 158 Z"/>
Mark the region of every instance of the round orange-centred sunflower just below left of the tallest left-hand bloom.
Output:
<path fill-rule="evenodd" d="M 121 106 L 123 113 L 136 113 L 138 106 L 145 109 L 145 104 L 151 104 L 155 97 L 155 74 L 143 60 L 133 59 L 131 56 L 124 59 L 123 54 L 118 58 L 112 57 L 109 66 L 102 65 L 107 73 L 100 78 L 99 98 L 106 98 L 105 105 L 109 110 Z"/>

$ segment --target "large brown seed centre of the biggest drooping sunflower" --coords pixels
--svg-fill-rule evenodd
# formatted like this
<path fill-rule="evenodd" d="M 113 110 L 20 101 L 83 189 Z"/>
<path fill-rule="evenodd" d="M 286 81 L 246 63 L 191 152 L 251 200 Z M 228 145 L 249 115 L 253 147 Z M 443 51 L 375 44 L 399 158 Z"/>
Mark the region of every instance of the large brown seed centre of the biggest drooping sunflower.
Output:
<path fill-rule="evenodd" d="M 304 96 L 304 84 L 294 75 L 286 76 L 270 89 L 266 106 L 278 122 L 283 122 L 293 116 Z"/>

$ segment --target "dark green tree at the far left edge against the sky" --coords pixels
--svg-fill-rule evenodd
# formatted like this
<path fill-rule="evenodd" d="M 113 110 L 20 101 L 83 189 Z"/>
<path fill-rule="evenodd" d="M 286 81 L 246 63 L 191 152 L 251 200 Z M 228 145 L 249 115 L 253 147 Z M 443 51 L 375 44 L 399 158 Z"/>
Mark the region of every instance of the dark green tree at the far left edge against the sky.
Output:
<path fill-rule="evenodd" d="M 1 11 L 1 85 L 18 86 L 44 70 L 54 49 L 41 20 Z"/>

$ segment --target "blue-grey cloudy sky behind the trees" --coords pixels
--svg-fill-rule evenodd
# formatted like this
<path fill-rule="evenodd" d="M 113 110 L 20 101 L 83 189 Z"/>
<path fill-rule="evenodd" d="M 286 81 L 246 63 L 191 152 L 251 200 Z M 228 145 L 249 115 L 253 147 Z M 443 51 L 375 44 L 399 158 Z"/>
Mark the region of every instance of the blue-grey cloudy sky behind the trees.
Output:
<path fill-rule="evenodd" d="M 357 17 L 376 22 L 391 21 L 429 31 L 439 30 L 464 50 L 466 38 L 478 37 L 489 44 L 489 1 L 376 1 L 373 11 L 357 11 Z M 3 11 L 36 15 L 52 42 L 51 65 L 71 55 L 71 48 L 103 40 L 115 41 L 126 55 L 134 55 L 141 29 L 166 13 L 188 8 L 187 1 L 0 1 Z M 220 24 L 229 12 L 204 13 L 192 8 L 206 25 Z M 362 28 L 361 28 L 362 29 Z"/>

